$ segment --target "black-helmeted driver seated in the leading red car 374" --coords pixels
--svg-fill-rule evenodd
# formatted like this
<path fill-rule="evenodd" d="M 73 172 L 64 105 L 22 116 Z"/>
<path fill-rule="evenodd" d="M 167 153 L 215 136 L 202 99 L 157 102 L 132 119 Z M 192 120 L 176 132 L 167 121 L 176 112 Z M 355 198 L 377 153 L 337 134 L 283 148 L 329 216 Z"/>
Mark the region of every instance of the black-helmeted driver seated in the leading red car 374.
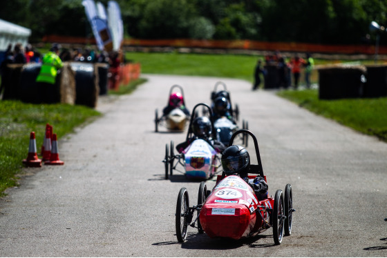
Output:
<path fill-rule="evenodd" d="M 255 179 L 249 179 L 250 170 L 249 152 L 242 146 L 229 146 L 222 153 L 222 166 L 226 176 L 238 175 L 251 186 L 258 200 L 267 199 L 267 183 L 261 175 Z"/>

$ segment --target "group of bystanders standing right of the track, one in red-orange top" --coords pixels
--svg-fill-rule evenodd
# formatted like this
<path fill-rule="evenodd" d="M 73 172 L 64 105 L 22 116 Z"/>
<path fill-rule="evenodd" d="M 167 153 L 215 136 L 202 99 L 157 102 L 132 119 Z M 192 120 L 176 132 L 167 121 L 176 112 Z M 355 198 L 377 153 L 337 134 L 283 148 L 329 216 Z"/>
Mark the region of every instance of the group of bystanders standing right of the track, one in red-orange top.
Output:
<path fill-rule="evenodd" d="M 276 85 L 275 88 L 299 88 L 301 70 L 303 68 L 305 75 L 305 87 L 310 88 L 310 75 L 314 66 L 312 56 L 307 53 L 305 59 L 294 54 L 289 60 L 281 52 L 276 51 L 274 54 L 265 56 L 265 66 L 263 61 L 258 59 L 254 70 L 253 90 L 256 90 L 261 84 L 261 77 L 266 78 L 268 75 L 267 67 L 275 67 Z M 273 75 L 271 75 L 273 76 Z"/>

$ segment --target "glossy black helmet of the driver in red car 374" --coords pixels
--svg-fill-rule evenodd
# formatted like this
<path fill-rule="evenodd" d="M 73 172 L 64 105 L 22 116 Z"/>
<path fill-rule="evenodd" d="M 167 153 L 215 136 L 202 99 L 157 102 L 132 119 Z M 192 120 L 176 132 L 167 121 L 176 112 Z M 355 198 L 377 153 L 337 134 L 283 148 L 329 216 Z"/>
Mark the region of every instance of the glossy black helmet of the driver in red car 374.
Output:
<path fill-rule="evenodd" d="M 249 152 L 242 146 L 229 146 L 222 153 L 222 166 L 227 176 L 235 173 L 247 177 L 250 167 Z"/>

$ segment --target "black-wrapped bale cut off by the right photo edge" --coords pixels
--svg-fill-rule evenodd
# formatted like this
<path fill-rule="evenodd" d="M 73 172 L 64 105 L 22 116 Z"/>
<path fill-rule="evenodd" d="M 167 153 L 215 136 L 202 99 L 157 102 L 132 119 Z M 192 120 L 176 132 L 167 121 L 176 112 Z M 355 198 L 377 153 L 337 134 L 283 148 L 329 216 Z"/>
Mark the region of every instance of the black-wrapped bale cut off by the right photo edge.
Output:
<path fill-rule="evenodd" d="M 364 97 L 387 96 L 387 66 L 370 65 L 367 68 L 367 82 L 364 86 Z"/>

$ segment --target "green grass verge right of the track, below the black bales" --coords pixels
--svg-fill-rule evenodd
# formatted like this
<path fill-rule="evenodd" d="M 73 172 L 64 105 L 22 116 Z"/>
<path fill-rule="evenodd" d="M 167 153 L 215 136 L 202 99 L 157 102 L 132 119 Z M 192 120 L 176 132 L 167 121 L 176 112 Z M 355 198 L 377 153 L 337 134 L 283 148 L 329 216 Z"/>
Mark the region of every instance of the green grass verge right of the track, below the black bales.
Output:
<path fill-rule="evenodd" d="M 318 115 L 387 142 L 387 97 L 319 100 L 317 90 L 283 90 L 278 95 Z"/>

